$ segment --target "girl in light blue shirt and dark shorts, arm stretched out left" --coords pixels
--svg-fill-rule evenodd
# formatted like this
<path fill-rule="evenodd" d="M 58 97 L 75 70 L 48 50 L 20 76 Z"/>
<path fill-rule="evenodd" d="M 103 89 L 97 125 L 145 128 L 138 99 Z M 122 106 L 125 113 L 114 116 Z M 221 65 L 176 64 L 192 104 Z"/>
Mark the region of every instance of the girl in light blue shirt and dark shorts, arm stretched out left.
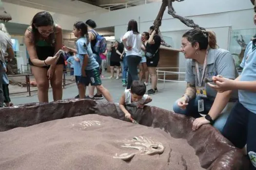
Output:
<path fill-rule="evenodd" d="M 79 98 L 84 99 L 85 86 L 91 84 L 96 86 L 107 101 L 113 102 L 109 91 L 101 85 L 99 65 L 93 56 L 87 24 L 81 21 L 76 22 L 73 33 L 78 38 L 76 41 L 77 49 L 68 47 L 63 47 L 63 49 L 77 53 L 77 59 L 75 58 L 74 62 L 74 75 L 79 89 Z"/>

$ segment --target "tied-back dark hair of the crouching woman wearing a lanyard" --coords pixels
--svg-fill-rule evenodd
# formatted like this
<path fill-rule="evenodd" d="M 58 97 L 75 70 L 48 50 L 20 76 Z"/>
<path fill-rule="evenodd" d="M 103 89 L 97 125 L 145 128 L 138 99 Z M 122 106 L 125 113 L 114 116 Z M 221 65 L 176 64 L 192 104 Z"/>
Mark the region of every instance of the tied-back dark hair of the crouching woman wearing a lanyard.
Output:
<path fill-rule="evenodd" d="M 204 31 L 200 29 L 192 29 L 183 34 L 182 37 L 186 37 L 191 45 L 194 46 L 197 42 L 200 50 L 206 50 L 208 45 L 212 49 L 217 49 L 216 35 L 212 31 Z"/>

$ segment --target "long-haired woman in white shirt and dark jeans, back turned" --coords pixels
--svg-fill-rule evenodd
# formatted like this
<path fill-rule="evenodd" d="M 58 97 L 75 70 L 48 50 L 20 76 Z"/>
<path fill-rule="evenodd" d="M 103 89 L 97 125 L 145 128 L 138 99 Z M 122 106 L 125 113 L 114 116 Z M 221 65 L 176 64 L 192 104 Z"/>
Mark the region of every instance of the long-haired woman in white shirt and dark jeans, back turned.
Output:
<path fill-rule="evenodd" d="M 129 89 L 134 80 L 138 79 L 138 65 L 141 61 L 141 34 L 138 32 L 137 21 L 132 19 L 128 23 L 127 32 L 122 36 L 122 42 L 126 53 L 128 66 L 128 81 L 126 89 Z"/>

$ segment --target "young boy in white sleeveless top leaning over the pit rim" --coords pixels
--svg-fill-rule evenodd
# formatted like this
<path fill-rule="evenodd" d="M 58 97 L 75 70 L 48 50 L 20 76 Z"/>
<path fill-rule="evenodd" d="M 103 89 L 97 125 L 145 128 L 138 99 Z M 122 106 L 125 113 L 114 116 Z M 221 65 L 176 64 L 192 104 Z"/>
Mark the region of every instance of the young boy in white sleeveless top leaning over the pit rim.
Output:
<path fill-rule="evenodd" d="M 133 81 L 131 89 L 126 89 L 119 101 L 119 107 L 124 112 L 125 118 L 131 119 L 131 114 L 126 110 L 125 105 L 143 108 L 145 104 L 152 101 L 146 93 L 146 85 L 140 81 Z"/>

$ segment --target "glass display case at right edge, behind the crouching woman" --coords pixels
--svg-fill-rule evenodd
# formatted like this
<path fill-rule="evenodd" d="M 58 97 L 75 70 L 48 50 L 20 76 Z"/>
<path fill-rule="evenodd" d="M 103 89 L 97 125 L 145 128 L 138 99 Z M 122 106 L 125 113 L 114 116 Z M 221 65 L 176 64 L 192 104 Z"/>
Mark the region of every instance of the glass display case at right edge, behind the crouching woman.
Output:
<path fill-rule="evenodd" d="M 255 34 L 256 29 L 232 30 L 229 51 L 235 59 L 237 68 L 243 59 L 246 45 Z"/>

